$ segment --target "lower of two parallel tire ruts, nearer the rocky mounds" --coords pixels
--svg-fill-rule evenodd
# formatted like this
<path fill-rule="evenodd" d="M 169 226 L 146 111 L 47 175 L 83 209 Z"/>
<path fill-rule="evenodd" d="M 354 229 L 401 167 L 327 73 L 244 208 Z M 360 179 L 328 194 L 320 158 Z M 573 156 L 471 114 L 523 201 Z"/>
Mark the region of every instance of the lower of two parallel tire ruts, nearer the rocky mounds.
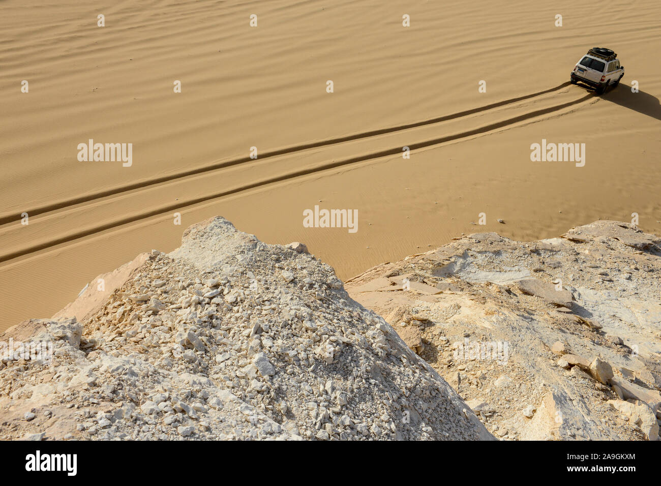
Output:
<path fill-rule="evenodd" d="M 568 84 L 569 83 L 563 83 L 563 85 L 561 85 L 560 87 L 564 87 Z M 555 90 L 559 89 L 560 87 L 557 87 L 557 88 L 551 89 L 551 90 L 546 90 L 546 91 L 543 91 L 542 93 L 549 93 L 550 91 L 555 91 Z M 535 96 L 539 96 L 539 94 L 527 95 L 526 97 L 522 97 L 522 98 L 523 99 L 529 99 L 529 98 L 535 97 Z M 502 121 L 499 121 L 499 122 L 494 122 L 494 123 L 491 123 L 491 124 L 487 124 L 487 125 L 481 126 L 479 128 L 475 128 L 475 129 L 472 129 L 472 130 L 465 130 L 463 132 L 459 132 L 458 134 L 453 134 L 453 135 L 443 136 L 443 137 L 438 137 L 438 138 L 432 138 L 432 139 L 424 140 L 422 142 L 410 143 L 410 144 L 408 144 L 408 147 L 410 148 L 410 150 L 422 149 L 422 148 L 425 148 L 425 147 L 430 147 L 432 145 L 439 145 L 440 143 L 452 142 L 452 141 L 455 141 L 455 140 L 461 140 L 463 138 L 468 138 L 468 137 L 479 135 L 479 134 L 485 134 L 486 132 L 492 132 L 493 130 L 498 130 L 499 128 L 504 128 L 506 126 L 510 126 L 510 125 L 513 125 L 513 124 L 516 124 L 516 123 L 519 123 L 519 122 L 524 122 L 525 120 L 529 120 L 529 119 L 535 118 L 537 116 L 543 116 L 545 114 L 557 112 L 559 110 L 563 110 L 564 108 L 568 108 L 570 106 L 580 104 L 580 103 L 588 101 L 590 99 L 594 99 L 594 95 L 592 95 L 592 93 L 588 93 L 587 95 L 584 95 L 583 97 L 581 97 L 579 99 L 576 99 L 576 100 L 573 100 L 573 101 L 568 101 L 568 102 L 564 102 L 562 104 L 549 106 L 547 108 L 541 108 L 539 110 L 534 110 L 532 112 L 526 112 L 524 114 L 520 114 L 518 116 L 514 116 L 512 118 L 508 118 L 506 120 L 502 120 Z M 504 104 L 509 104 L 510 102 L 512 102 L 512 101 L 499 102 L 499 103 L 494 103 L 492 105 L 487 105 L 487 106 L 491 106 L 492 108 L 494 108 L 494 107 L 497 107 L 497 106 L 503 106 Z M 475 108 L 474 110 L 467 110 L 467 112 L 461 112 L 461 113 L 463 113 L 463 115 L 461 115 L 461 116 L 465 116 L 465 114 L 473 114 L 475 112 L 479 112 L 479 111 L 484 110 L 484 109 L 485 108 L 482 107 L 482 108 Z M 438 123 L 439 121 L 446 121 L 446 120 L 451 119 L 451 118 L 457 118 L 457 116 L 459 116 L 459 115 L 458 114 L 452 114 L 452 115 L 448 115 L 446 117 L 436 118 L 435 120 L 437 120 L 436 123 Z M 451 118 L 448 118 L 448 117 L 451 117 Z M 425 120 L 424 122 L 417 122 L 415 124 L 407 125 L 406 127 L 407 128 L 416 128 L 418 126 L 422 126 L 422 125 L 430 124 L 430 123 L 434 123 L 434 122 L 430 122 L 429 120 Z M 387 133 L 391 133 L 391 132 L 398 132 L 398 131 L 402 131 L 402 130 L 405 130 L 405 129 L 400 128 L 399 130 L 395 130 L 394 128 L 388 128 L 388 129 L 375 130 L 374 132 L 365 132 L 365 133 L 371 133 L 373 135 L 380 135 L 380 134 L 387 134 Z M 375 133 L 375 132 L 377 132 L 377 133 Z M 373 136 L 373 135 L 370 135 L 370 136 Z M 360 138 L 366 138 L 366 137 L 367 136 L 364 136 L 364 134 L 358 134 L 358 135 L 354 135 L 354 136 L 350 136 L 350 137 L 344 137 L 344 138 L 342 138 L 342 141 L 346 142 L 346 141 L 350 141 L 350 140 L 360 140 Z M 339 139 L 334 139 L 334 140 L 339 140 Z M 329 140 L 325 140 L 323 142 L 315 142 L 315 143 L 308 143 L 308 144 L 305 144 L 305 145 L 298 145 L 297 147 L 314 148 L 314 147 L 321 147 L 321 146 L 324 146 L 324 145 L 331 145 L 332 143 L 338 143 L 338 142 L 330 142 Z M 301 150 L 303 150 L 303 149 L 298 148 L 296 150 L 288 150 L 288 149 L 277 150 L 277 151 L 273 151 L 272 153 L 270 153 L 270 155 L 268 155 L 268 157 L 274 157 L 275 155 L 291 154 L 291 153 L 295 153 L 295 152 L 301 151 Z M 221 197 L 229 196 L 229 195 L 232 195 L 232 194 L 237 194 L 237 193 L 243 192 L 245 190 L 251 190 L 251 189 L 254 189 L 254 188 L 259 188 L 259 187 L 266 186 L 266 185 L 269 185 L 269 184 L 288 181 L 290 179 L 295 179 L 297 177 L 303 177 L 303 176 L 306 176 L 306 175 L 311 175 L 313 173 L 319 173 L 319 172 L 327 171 L 327 170 L 330 170 L 330 169 L 336 169 L 338 167 L 343 167 L 343 166 L 351 165 L 351 164 L 358 163 L 358 162 L 364 162 L 364 161 L 368 161 L 368 160 L 371 160 L 371 159 L 379 159 L 381 157 L 388 157 L 388 156 L 391 156 L 391 155 L 398 155 L 398 156 L 401 155 L 401 145 L 397 145 L 396 147 L 389 147 L 387 149 L 382 149 L 382 150 L 378 150 L 378 151 L 372 151 L 372 152 L 366 153 L 364 155 L 358 155 L 358 156 L 355 156 L 355 157 L 346 157 L 344 159 L 338 159 L 338 160 L 331 161 L 331 162 L 328 162 L 328 163 L 323 163 L 321 165 L 315 165 L 313 167 L 307 167 L 305 169 L 290 171 L 290 172 L 282 174 L 282 175 L 278 175 L 278 176 L 274 176 L 274 177 L 268 177 L 268 178 L 262 179 L 260 181 L 251 182 L 250 184 L 241 184 L 241 185 L 236 186 L 234 188 L 230 188 L 230 189 L 227 189 L 227 190 L 222 190 L 222 191 L 219 191 L 219 192 L 215 192 L 213 194 L 206 194 L 206 195 L 200 196 L 198 198 L 189 198 L 187 200 L 179 201 L 176 204 L 168 204 L 167 206 L 159 206 L 158 208 L 153 208 L 152 210 L 139 212 L 137 214 L 131 214 L 131 215 L 125 216 L 124 218 L 118 218 L 116 220 L 112 220 L 112 221 L 107 222 L 107 223 L 96 225 L 94 227 L 81 229 L 79 231 L 73 231 L 73 232 L 67 233 L 66 235 L 63 235 L 61 237 L 53 238 L 53 239 L 50 239 L 48 241 L 43 241 L 42 243 L 37 243 L 37 244 L 31 245 L 29 247 L 24 247 L 20 250 L 11 251 L 9 253 L 2 254 L 2 255 L 0 255 L 0 263 L 6 262 L 6 261 L 9 261 L 9 260 L 13 260 L 13 259 L 16 259 L 16 258 L 19 258 L 19 257 L 23 257 L 25 255 L 29 255 L 30 253 L 35 253 L 36 251 L 48 249 L 50 247 L 54 247 L 54 246 L 60 245 L 62 243 L 68 243 L 68 242 L 71 242 L 75 239 L 81 239 L 83 237 L 87 237 L 87 236 L 93 235 L 95 233 L 100 233 L 101 231 L 106 231 L 106 230 L 112 229 L 114 227 L 118 227 L 118 226 L 121 226 L 121 225 L 126 225 L 128 223 L 133 223 L 133 222 L 136 222 L 136 221 L 139 221 L 139 220 L 143 220 L 145 218 L 151 218 L 153 216 L 158 216 L 158 215 L 161 215 L 161 214 L 166 213 L 166 212 L 171 212 L 173 210 L 180 211 L 183 208 L 187 208 L 189 206 L 194 206 L 194 205 L 200 204 L 202 202 L 207 202 L 207 201 L 212 200 L 212 199 L 221 198 Z M 260 160 L 264 159 L 264 158 L 266 158 L 266 157 L 260 157 Z M 249 159 L 249 158 L 247 158 L 247 160 L 248 161 L 253 161 L 253 162 L 255 161 L 255 159 Z M 220 167 L 216 167 L 216 168 L 229 167 L 229 165 L 237 165 L 238 163 L 243 163 L 243 161 L 245 161 L 245 159 L 237 159 L 235 161 L 229 161 L 227 163 L 223 163 L 223 165 L 220 165 Z M 227 164 L 229 164 L 229 165 L 227 165 Z M 197 174 L 200 174 L 200 173 L 208 172 L 210 170 L 213 170 L 213 169 L 209 169 L 208 167 L 205 167 L 203 169 L 197 169 L 195 171 L 188 171 L 188 172 L 190 172 L 190 174 L 187 174 L 187 175 L 197 175 Z M 173 181 L 175 179 L 181 179 L 182 177 L 186 177 L 186 176 L 179 175 L 178 177 L 167 177 L 167 178 L 165 178 L 165 181 Z M 164 179 L 164 178 L 160 178 L 160 179 Z M 162 181 L 162 182 L 165 182 L 165 181 Z M 155 184 L 155 182 L 152 182 L 152 183 L 147 184 L 147 185 L 141 185 L 141 186 L 138 186 L 137 188 L 151 186 L 153 184 Z M 126 190 L 130 190 L 130 189 L 126 189 Z M 118 192 L 114 192 L 113 194 L 120 194 L 121 192 L 125 192 L 126 190 L 121 190 L 121 191 L 118 191 Z M 108 195 L 112 195 L 112 194 L 108 194 Z M 98 196 L 97 198 L 100 198 L 100 197 L 102 197 L 102 196 Z M 91 201 L 91 200 L 94 200 L 94 199 L 96 199 L 96 198 L 88 198 L 87 201 Z M 83 201 L 83 202 L 85 202 L 85 201 Z M 72 206 L 72 205 L 73 204 L 63 205 L 63 206 L 60 206 L 59 208 L 56 208 L 56 209 L 67 208 L 68 206 Z M 46 212 L 46 211 L 42 211 L 42 212 Z M 32 215 L 30 215 L 30 216 L 32 216 Z"/>

